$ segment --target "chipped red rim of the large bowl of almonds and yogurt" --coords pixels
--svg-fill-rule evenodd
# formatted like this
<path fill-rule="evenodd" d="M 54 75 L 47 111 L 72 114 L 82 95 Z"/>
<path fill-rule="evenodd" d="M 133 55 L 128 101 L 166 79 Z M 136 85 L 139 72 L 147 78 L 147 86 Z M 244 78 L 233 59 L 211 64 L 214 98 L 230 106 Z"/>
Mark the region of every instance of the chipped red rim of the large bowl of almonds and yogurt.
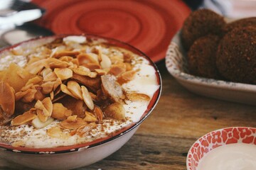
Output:
<path fill-rule="evenodd" d="M 4 50 L 0 51 L 0 55 L 3 52 L 9 51 L 14 47 L 17 46 L 26 46 L 28 47 L 29 45 L 33 45 L 34 42 L 40 40 L 47 40 L 49 38 L 64 38 L 68 35 L 54 35 L 54 36 L 50 36 L 50 37 L 44 37 L 44 38 L 35 38 L 32 40 L 28 40 L 25 42 L 21 42 L 18 43 L 16 45 L 13 45 L 11 47 L 8 47 Z M 104 38 L 98 35 L 85 35 L 86 38 L 88 39 L 95 39 L 95 40 L 99 40 L 99 39 L 103 39 L 103 40 L 107 40 L 107 43 L 110 45 L 114 45 L 117 47 L 123 47 L 127 50 L 131 50 L 132 52 L 136 53 L 137 55 L 140 55 L 142 57 L 144 57 L 146 60 L 148 60 L 151 64 L 151 66 L 154 67 L 154 69 L 156 70 L 156 79 L 157 79 L 157 83 L 159 84 L 159 89 L 154 93 L 154 96 L 151 98 L 151 101 L 149 103 L 149 105 L 147 106 L 146 111 L 144 112 L 144 114 L 141 116 L 139 122 L 137 123 L 133 123 L 132 125 L 129 125 L 125 128 L 123 128 L 122 130 L 118 130 L 117 132 L 114 132 L 112 134 L 112 136 L 109 137 L 104 137 L 98 140 L 94 140 L 92 142 L 86 142 L 80 145 L 70 145 L 70 146 L 65 146 L 65 147 L 55 147 L 55 148 L 30 148 L 30 147 L 12 147 L 11 145 L 6 145 L 3 143 L 0 143 L 0 149 L 4 149 L 5 151 L 10 151 L 10 152 L 21 152 L 21 153 L 25 153 L 25 154 L 42 154 L 42 153 L 46 153 L 48 154 L 49 152 L 51 154 L 60 154 L 60 153 L 66 153 L 66 152 L 75 152 L 78 151 L 81 148 L 91 148 L 91 147 L 97 147 L 99 145 L 103 145 L 106 142 L 111 142 L 112 140 L 116 140 L 119 137 L 122 137 L 123 135 L 126 135 L 128 132 L 137 129 L 139 127 L 139 125 L 146 119 L 146 117 L 151 113 L 151 111 L 153 111 L 154 107 L 156 106 L 156 103 L 159 101 L 159 97 L 161 94 L 161 76 L 159 73 L 159 70 L 157 69 L 156 65 L 154 64 L 154 62 L 152 62 L 149 57 L 147 57 L 146 55 L 144 55 L 143 52 L 137 50 L 136 48 L 132 47 L 131 45 L 128 45 L 124 42 L 121 42 L 119 40 L 114 40 L 112 38 Z"/>

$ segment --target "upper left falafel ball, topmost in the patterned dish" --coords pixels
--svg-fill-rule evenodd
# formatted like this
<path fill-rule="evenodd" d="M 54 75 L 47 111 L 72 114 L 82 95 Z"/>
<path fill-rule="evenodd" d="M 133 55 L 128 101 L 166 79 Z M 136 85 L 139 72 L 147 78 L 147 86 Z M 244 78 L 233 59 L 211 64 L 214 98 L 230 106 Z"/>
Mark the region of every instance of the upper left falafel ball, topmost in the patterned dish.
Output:
<path fill-rule="evenodd" d="M 193 42 L 208 34 L 223 35 L 225 21 L 222 16 L 208 9 L 193 11 L 183 23 L 181 40 L 186 50 Z"/>

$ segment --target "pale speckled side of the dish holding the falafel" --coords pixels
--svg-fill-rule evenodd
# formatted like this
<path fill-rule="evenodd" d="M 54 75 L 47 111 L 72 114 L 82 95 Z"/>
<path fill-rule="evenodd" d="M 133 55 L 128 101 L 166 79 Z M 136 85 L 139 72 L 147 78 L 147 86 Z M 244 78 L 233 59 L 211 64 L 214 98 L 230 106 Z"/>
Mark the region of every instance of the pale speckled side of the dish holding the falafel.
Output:
<path fill-rule="evenodd" d="M 231 81 L 196 77 L 188 72 L 186 52 L 181 44 L 181 31 L 178 31 L 166 52 L 166 68 L 170 74 L 188 90 L 213 98 L 249 103 L 255 105 L 256 86 Z M 222 91 L 225 91 L 223 93 Z M 240 95 L 240 97 L 238 97 Z"/>

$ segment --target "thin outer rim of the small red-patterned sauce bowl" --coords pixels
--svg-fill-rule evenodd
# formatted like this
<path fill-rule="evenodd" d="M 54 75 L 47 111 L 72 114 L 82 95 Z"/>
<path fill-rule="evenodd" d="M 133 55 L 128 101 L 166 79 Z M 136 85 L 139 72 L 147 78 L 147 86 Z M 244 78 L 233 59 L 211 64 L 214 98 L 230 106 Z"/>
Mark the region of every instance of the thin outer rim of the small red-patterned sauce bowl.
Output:
<path fill-rule="evenodd" d="M 190 169 L 191 166 L 188 164 L 188 159 L 190 159 L 190 156 L 192 157 L 191 150 L 193 149 L 193 147 L 195 147 L 196 144 L 201 143 L 200 140 L 208 137 L 209 135 L 212 135 L 213 133 L 220 132 L 220 131 L 223 131 L 223 130 L 233 130 L 235 128 L 237 128 L 237 129 L 252 129 L 252 130 L 255 130 L 255 134 L 256 134 L 256 128 L 246 127 L 246 126 L 232 126 L 232 127 L 228 127 L 228 128 L 220 128 L 220 129 L 217 129 L 217 130 L 210 131 L 210 132 L 206 133 L 205 135 L 199 137 L 195 142 L 193 142 L 193 145 L 191 145 L 190 149 L 188 150 L 187 157 L 186 157 L 186 169 L 191 170 Z M 243 143 L 243 142 L 238 142 L 238 143 Z M 230 144 L 233 144 L 233 143 L 230 143 Z M 225 144 L 225 145 L 230 145 L 230 144 Z M 248 144 L 248 145 L 251 145 L 251 144 Z M 223 145 L 221 145 L 221 146 L 223 146 Z M 220 147 L 220 146 L 218 146 L 218 147 Z M 210 152 L 210 150 L 208 152 Z"/>

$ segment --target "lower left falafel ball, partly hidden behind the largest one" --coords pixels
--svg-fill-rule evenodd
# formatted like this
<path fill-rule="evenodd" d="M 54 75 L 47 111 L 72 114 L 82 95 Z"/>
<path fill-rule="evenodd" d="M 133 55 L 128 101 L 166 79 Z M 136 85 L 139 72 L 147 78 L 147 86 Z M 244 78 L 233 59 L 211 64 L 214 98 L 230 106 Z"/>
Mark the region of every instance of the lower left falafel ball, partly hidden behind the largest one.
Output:
<path fill-rule="evenodd" d="M 219 79 L 216 67 L 216 52 L 220 38 L 206 35 L 198 38 L 188 51 L 188 69 L 191 74 L 212 79 Z"/>

